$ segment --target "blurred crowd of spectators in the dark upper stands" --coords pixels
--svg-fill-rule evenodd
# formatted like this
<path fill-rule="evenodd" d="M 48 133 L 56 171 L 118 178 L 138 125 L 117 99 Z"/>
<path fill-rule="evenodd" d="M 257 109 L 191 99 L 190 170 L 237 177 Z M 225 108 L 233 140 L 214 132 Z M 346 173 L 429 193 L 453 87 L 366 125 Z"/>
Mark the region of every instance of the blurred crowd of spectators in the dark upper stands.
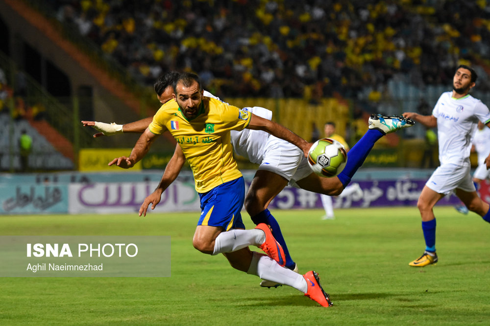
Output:
<path fill-rule="evenodd" d="M 193 71 L 219 96 L 355 99 L 369 85 L 376 100 L 392 78 L 447 85 L 490 54 L 482 0 L 49 2 L 140 81 Z"/>

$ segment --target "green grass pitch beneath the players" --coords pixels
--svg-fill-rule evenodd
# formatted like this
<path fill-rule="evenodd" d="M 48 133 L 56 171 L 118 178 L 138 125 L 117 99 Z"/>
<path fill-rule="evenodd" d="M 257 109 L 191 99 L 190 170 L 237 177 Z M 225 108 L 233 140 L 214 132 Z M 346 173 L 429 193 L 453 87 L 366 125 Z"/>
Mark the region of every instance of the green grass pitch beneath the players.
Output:
<path fill-rule="evenodd" d="M 0 325 L 489 325 L 490 225 L 479 216 L 436 207 L 439 263 L 415 268 L 416 207 L 272 213 L 333 307 L 196 251 L 198 213 L 0 216 L 0 235 L 172 237 L 170 278 L 0 278 Z"/>

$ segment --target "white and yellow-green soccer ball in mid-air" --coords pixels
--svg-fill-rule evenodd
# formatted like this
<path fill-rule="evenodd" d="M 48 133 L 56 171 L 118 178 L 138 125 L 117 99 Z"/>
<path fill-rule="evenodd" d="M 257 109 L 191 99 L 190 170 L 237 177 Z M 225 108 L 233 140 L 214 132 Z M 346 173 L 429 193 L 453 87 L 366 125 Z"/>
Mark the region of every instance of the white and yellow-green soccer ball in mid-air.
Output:
<path fill-rule="evenodd" d="M 308 152 L 308 164 L 319 176 L 332 177 L 341 173 L 347 163 L 347 152 L 337 140 L 317 140 Z"/>

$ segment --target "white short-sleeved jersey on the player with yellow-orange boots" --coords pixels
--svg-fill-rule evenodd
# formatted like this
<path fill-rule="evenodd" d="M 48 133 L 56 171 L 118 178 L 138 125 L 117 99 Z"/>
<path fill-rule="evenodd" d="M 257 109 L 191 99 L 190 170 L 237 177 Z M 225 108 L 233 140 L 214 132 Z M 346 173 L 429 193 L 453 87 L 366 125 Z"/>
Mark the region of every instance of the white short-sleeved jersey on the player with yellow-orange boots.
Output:
<path fill-rule="evenodd" d="M 471 95 L 455 99 L 444 92 L 432 115 L 437 118 L 439 161 L 441 164 L 469 164 L 469 154 L 478 120 L 490 121 L 490 111 Z"/>

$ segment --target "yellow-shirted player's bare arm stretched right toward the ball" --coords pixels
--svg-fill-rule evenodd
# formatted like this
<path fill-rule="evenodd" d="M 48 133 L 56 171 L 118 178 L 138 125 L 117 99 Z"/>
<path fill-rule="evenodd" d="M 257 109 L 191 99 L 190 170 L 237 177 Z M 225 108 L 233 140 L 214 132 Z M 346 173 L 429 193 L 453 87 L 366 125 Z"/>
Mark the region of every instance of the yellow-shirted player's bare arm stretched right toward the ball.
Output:
<path fill-rule="evenodd" d="M 299 147 L 305 157 L 308 156 L 308 151 L 310 150 L 310 147 L 313 145 L 312 143 L 307 142 L 303 138 L 299 137 L 297 134 L 295 134 L 293 131 L 287 129 L 284 126 L 281 126 L 280 124 L 270 121 L 264 118 L 259 117 L 258 115 L 255 115 L 253 113 L 252 118 L 250 119 L 250 123 L 246 128 L 252 129 L 252 130 L 264 130 L 269 132 L 271 135 L 284 139 L 297 147 Z"/>

